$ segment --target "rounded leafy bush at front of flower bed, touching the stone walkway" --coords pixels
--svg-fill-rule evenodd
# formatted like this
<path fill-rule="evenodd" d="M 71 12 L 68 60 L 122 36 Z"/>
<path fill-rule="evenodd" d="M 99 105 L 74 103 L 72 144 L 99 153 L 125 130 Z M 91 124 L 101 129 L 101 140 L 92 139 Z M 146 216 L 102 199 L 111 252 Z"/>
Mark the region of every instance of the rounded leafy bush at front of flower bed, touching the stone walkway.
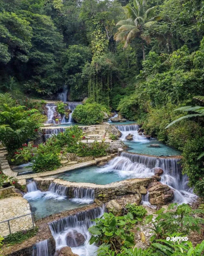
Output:
<path fill-rule="evenodd" d="M 61 163 L 55 153 L 40 153 L 32 158 L 34 172 L 46 172 L 57 169 Z"/>

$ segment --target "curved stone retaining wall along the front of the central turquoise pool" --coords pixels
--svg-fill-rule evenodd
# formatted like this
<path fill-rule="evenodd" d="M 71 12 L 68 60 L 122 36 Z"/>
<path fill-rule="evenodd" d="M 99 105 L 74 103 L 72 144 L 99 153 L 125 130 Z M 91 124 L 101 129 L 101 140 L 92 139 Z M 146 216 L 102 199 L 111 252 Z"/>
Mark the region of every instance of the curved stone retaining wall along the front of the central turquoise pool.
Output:
<path fill-rule="evenodd" d="M 92 188 L 95 190 L 95 198 L 100 201 L 108 201 L 116 198 L 120 195 L 128 195 L 128 194 L 141 194 L 141 186 L 146 188 L 152 182 L 152 178 L 142 178 L 142 179 L 129 179 L 122 180 L 119 182 L 114 182 L 107 185 L 96 185 L 94 183 L 74 183 L 66 180 L 55 179 L 52 177 L 48 178 L 35 178 L 38 189 L 42 191 L 48 190 L 48 186 L 54 182 L 57 184 L 61 184 L 63 186 L 67 186 L 69 197 L 73 197 L 74 189 L 83 187 L 83 188 Z"/>

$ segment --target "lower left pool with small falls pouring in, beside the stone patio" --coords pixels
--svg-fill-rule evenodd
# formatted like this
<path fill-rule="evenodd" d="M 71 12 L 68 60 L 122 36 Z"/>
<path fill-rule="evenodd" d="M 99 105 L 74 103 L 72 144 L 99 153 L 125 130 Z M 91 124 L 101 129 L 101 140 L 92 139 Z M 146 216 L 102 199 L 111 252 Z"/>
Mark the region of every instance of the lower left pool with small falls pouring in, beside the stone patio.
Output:
<path fill-rule="evenodd" d="M 88 201 L 88 198 L 86 201 L 83 201 L 83 199 L 80 201 L 79 199 L 80 202 L 68 199 L 68 187 L 57 183 L 51 183 L 48 191 L 42 192 L 37 189 L 35 181 L 29 181 L 27 184 L 27 191 L 28 192 L 23 198 L 28 200 L 36 219 L 44 218 L 45 216 L 54 213 L 83 207 L 93 202 L 93 200 Z"/>

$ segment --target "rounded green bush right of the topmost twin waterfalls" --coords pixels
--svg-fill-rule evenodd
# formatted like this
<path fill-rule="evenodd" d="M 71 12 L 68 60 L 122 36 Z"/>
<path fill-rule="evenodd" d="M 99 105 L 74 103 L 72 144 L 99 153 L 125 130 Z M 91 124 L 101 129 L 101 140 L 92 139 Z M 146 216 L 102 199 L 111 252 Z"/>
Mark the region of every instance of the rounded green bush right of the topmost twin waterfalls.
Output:
<path fill-rule="evenodd" d="M 84 125 L 95 125 L 103 122 L 105 108 L 98 103 L 78 105 L 72 114 L 74 120 Z"/>

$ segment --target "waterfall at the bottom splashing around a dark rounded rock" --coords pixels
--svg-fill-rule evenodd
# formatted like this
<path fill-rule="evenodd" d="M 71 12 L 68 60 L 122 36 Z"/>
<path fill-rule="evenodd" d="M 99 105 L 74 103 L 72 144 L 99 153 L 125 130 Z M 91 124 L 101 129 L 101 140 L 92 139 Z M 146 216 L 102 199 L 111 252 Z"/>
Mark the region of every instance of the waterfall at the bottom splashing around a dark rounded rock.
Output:
<path fill-rule="evenodd" d="M 94 224 L 94 222 L 91 220 L 99 218 L 103 215 L 103 213 L 104 209 L 102 207 L 96 207 L 94 209 L 78 212 L 76 215 L 69 215 L 65 218 L 61 218 L 57 221 L 49 223 L 52 236 L 56 241 L 56 249 L 67 246 L 66 235 L 68 233 L 74 234 L 74 231 L 77 231 L 85 237 L 86 241 L 79 247 L 72 247 L 73 253 L 76 253 L 79 256 L 96 255 L 95 252 L 97 247 L 94 244 L 90 245 L 88 243 L 89 239 L 91 238 L 88 228 Z"/>

